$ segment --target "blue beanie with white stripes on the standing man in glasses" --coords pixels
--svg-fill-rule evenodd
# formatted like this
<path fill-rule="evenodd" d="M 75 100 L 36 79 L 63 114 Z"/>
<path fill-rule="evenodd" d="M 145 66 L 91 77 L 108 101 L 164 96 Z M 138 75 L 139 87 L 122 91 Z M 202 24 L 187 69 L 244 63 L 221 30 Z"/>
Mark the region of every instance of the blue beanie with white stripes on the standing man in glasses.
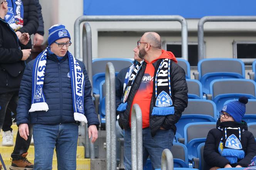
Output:
<path fill-rule="evenodd" d="M 69 38 L 69 40 L 71 39 L 69 32 L 66 30 L 65 26 L 61 23 L 52 25 L 52 27 L 49 28 L 48 45 L 51 45 L 56 40 L 59 40 L 61 38 Z"/>

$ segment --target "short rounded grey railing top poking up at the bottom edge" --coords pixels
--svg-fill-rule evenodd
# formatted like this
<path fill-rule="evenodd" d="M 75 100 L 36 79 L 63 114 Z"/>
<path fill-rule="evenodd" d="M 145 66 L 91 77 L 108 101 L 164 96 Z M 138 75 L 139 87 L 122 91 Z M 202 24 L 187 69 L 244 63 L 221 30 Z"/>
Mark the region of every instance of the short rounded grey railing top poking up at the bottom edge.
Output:
<path fill-rule="evenodd" d="M 173 156 L 169 149 L 162 152 L 161 170 L 173 170 Z"/>

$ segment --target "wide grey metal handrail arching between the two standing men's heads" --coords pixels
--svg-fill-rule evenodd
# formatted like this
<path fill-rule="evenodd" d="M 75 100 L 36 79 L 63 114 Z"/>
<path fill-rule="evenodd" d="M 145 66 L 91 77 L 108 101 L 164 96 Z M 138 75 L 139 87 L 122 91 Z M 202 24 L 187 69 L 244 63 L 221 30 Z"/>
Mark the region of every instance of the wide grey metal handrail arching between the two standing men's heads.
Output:
<path fill-rule="evenodd" d="M 99 15 L 80 16 L 74 23 L 74 53 L 76 58 L 80 58 L 80 24 L 88 21 L 178 21 L 182 27 L 182 58 L 188 60 L 187 45 L 187 21 L 180 15 Z M 89 29 L 89 28 L 88 28 Z M 88 56 L 89 57 L 89 56 Z M 90 70 L 91 71 L 91 70 Z"/>

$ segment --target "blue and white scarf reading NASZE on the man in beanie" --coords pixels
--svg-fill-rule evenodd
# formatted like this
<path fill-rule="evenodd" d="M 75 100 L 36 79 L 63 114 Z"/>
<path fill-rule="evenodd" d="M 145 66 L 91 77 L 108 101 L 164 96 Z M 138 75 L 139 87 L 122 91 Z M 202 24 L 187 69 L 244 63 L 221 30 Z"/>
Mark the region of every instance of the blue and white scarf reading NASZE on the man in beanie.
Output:
<path fill-rule="evenodd" d="M 32 101 L 29 112 L 48 111 L 49 107 L 45 101 L 43 92 L 44 75 L 46 68 L 47 47 L 35 59 L 32 72 Z M 84 116 L 84 74 L 76 59 L 68 53 L 69 71 L 71 75 L 71 90 L 73 98 L 74 119 L 79 122 L 86 122 Z"/>

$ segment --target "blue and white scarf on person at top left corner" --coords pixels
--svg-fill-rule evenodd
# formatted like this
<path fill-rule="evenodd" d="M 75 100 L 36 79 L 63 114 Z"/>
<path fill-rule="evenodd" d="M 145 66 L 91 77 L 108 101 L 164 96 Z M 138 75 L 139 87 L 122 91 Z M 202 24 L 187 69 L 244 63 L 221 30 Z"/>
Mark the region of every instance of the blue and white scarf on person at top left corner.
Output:
<path fill-rule="evenodd" d="M 24 8 L 22 0 L 7 0 L 8 11 L 5 15 L 5 21 L 17 31 L 23 27 Z"/>

